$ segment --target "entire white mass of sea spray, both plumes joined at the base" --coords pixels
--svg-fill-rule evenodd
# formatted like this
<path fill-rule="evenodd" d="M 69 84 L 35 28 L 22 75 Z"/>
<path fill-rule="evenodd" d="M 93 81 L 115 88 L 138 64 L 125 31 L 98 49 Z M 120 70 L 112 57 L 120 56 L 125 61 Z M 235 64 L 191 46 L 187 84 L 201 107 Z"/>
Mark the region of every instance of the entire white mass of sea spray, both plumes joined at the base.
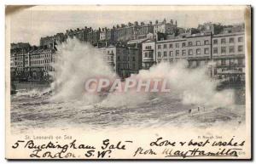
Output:
<path fill-rule="evenodd" d="M 207 75 L 207 65 L 189 69 L 187 61 L 177 63 L 160 63 L 149 70 L 139 71 L 139 74 L 129 78 L 166 78 L 170 86 L 169 93 L 143 93 L 128 91 L 124 93 L 108 93 L 101 98 L 97 94 L 84 91 L 84 82 L 90 77 L 117 76 L 104 61 L 104 54 L 89 43 L 68 39 L 58 47 L 55 56 L 55 100 L 78 99 L 86 104 L 98 104 L 105 107 L 136 106 L 156 97 L 180 99 L 184 105 L 207 105 L 211 107 L 233 105 L 233 91 L 216 91 L 218 81 Z M 153 96 L 152 96 L 153 95 Z"/>

